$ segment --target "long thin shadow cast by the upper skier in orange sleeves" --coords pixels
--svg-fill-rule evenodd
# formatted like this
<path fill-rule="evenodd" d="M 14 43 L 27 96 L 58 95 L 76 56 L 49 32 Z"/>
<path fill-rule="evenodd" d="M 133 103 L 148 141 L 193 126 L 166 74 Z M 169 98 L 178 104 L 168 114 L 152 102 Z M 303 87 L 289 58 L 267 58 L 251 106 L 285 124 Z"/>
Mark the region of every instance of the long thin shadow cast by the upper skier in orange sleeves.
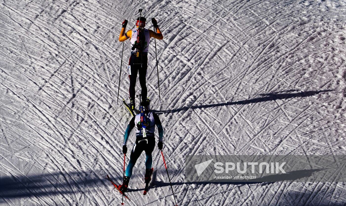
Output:
<path fill-rule="evenodd" d="M 282 91 L 282 92 L 291 92 L 291 91 L 298 91 L 298 90 L 288 90 L 288 91 Z M 303 91 L 303 92 L 284 93 L 284 94 L 280 94 L 279 92 L 273 92 L 273 93 L 267 93 L 267 94 L 260 94 L 260 96 L 262 96 L 262 97 L 257 97 L 257 98 L 253 98 L 253 99 L 246 99 L 246 100 L 239 100 L 239 101 L 234 101 L 234 102 L 225 102 L 225 103 L 210 104 L 210 105 L 182 107 L 182 108 L 178 108 L 178 109 L 152 110 L 152 111 L 155 112 L 156 114 L 164 114 L 164 113 L 175 113 L 175 112 L 179 112 L 179 111 L 187 111 L 188 109 L 201 109 L 201 108 L 221 107 L 221 106 L 229 106 L 229 105 L 246 105 L 246 104 L 251 104 L 251 103 L 272 101 L 272 100 L 277 100 L 277 99 L 309 97 L 309 96 L 317 95 L 318 93 L 321 93 L 321 92 L 328 92 L 328 91 L 334 91 L 334 90 L 327 89 L 327 90 L 320 90 L 320 91 Z"/>

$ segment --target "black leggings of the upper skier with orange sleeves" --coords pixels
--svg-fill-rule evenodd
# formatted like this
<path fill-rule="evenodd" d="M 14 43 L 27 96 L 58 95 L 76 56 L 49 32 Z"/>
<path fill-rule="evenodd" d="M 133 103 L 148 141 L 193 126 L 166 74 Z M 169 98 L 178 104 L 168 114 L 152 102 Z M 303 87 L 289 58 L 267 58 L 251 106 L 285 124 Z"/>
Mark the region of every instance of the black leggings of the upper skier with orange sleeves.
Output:
<path fill-rule="evenodd" d="M 142 63 L 142 65 L 140 64 Z M 139 55 L 136 57 L 136 54 L 131 54 L 128 66 L 128 74 L 130 78 L 130 88 L 129 94 L 131 99 L 135 99 L 136 91 L 136 81 L 137 73 L 139 73 L 139 84 L 142 88 L 142 99 L 147 98 L 147 86 L 146 86 L 146 75 L 148 68 L 148 55 Z"/>

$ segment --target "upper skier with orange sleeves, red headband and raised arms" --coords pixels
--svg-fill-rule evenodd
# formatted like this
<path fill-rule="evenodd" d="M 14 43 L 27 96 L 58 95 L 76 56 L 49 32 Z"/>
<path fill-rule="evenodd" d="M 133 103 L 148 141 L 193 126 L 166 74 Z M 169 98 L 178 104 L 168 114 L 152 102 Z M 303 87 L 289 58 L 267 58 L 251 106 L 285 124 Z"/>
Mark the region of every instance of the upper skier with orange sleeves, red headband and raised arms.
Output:
<path fill-rule="evenodd" d="M 139 83 L 142 88 L 142 102 L 147 102 L 147 86 L 146 86 L 146 74 L 148 68 L 148 48 L 150 43 L 150 38 L 154 37 L 156 39 L 163 39 L 160 29 L 157 26 L 157 21 L 152 18 L 152 23 L 156 29 L 156 33 L 150 29 L 145 28 L 144 17 L 137 18 L 136 28 L 130 29 L 125 33 L 127 20 L 122 23 L 122 29 L 119 35 L 119 41 L 123 42 L 126 39 L 130 39 L 131 43 L 131 56 L 128 64 L 128 75 L 130 78 L 130 110 L 135 109 L 135 85 L 137 80 L 137 73 L 139 73 Z"/>

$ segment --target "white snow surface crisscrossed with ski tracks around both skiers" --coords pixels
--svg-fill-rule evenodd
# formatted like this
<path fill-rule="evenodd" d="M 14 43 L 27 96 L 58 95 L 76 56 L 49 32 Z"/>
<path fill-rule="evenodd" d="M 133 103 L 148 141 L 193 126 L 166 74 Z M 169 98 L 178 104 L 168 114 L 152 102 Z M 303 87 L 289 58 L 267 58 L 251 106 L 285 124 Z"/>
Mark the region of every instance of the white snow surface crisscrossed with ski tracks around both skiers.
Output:
<path fill-rule="evenodd" d="M 143 8 L 152 108 L 178 205 L 346 205 L 345 182 L 186 182 L 189 154 L 346 154 L 346 1 L 0 0 L 0 205 L 119 205 L 130 114 L 121 22 Z M 152 23 L 147 21 L 152 28 Z M 136 91 L 140 91 L 139 83 Z M 134 142 L 134 134 L 130 136 Z M 161 154 L 143 196 L 174 205 Z M 128 158 L 127 158 L 128 162 Z"/>

